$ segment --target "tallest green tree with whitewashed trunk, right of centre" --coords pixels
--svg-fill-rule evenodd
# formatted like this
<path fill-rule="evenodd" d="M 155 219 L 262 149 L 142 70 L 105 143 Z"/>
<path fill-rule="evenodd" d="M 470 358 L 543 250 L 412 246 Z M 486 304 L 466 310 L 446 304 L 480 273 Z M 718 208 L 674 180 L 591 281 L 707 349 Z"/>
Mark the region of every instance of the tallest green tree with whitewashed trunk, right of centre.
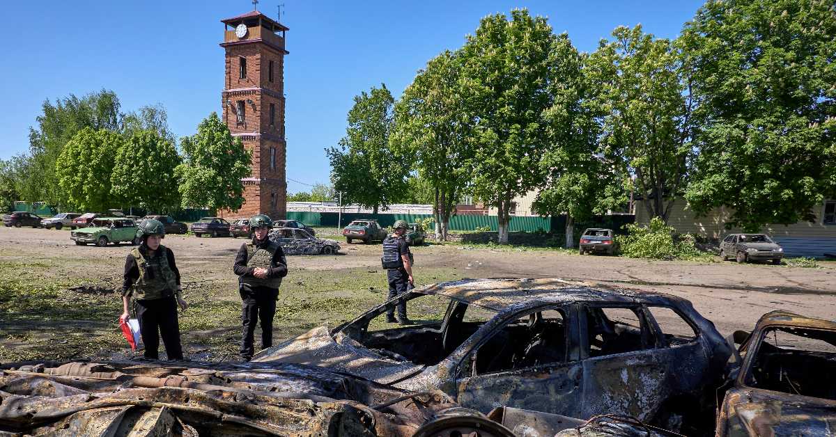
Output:
<path fill-rule="evenodd" d="M 542 185 L 548 149 L 545 111 L 559 80 L 557 36 L 546 18 L 515 9 L 482 18 L 461 49 L 467 119 L 474 122 L 472 192 L 496 206 L 499 241 L 507 243 L 511 201 Z"/>

